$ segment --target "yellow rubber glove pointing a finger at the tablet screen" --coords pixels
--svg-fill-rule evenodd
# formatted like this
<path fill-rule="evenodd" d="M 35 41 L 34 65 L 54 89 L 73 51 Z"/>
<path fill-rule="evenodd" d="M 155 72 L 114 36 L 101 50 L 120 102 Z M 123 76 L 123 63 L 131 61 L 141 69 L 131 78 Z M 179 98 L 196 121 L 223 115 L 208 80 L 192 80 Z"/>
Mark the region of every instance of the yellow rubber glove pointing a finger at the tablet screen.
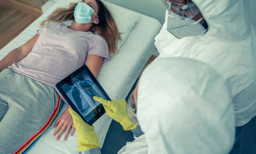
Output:
<path fill-rule="evenodd" d="M 113 101 L 105 100 L 101 97 L 94 96 L 95 101 L 103 104 L 105 112 L 115 121 L 119 122 L 124 130 L 132 130 L 137 127 L 135 123 L 127 116 L 125 99 L 115 99 Z"/>

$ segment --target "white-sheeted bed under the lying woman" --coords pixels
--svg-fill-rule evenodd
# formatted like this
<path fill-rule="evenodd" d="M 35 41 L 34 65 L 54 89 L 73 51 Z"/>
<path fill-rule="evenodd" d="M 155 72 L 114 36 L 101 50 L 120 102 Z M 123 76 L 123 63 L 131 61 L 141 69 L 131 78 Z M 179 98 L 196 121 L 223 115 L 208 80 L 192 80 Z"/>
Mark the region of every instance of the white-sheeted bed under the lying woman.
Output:
<path fill-rule="evenodd" d="M 51 14 L 54 9 L 67 7 L 71 2 L 71 0 L 56 2 L 0 50 L 0 60 L 11 50 L 23 45 L 34 36 L 36 30 L 40 28 L 39 23 Z M 97 79 L 111 99 L 125 98 L 146 61 L 155 50 L 154 38 L 159 33 L 161 25 L 154 18 L 108 2 L 104 3 L 116 20 L 118 29 L 122 33 L 122 41 L 118 43 L 118 53 L 112 56 L 110 61 L 103 63 Z M 44 131 L 38 134 L 37 138 L 33 138 L 30 143 L 25 143 L 23 149 L 20 149 L 17 153 L 78 153 L 76 133 L 73 136 L 69 136 L 67 141 L 63 141 L 64 135 L 61 136 L 59 141 L 56 140 L 56 137 L 53 137 L 55 129 L 53 125 L 67 106 L 67 103 L 59 102 L 52 120 L 49 121 Z M 104 114 L 94 123 L 100 147 L 103 146 L 111 121 L 112 119 Z"/>

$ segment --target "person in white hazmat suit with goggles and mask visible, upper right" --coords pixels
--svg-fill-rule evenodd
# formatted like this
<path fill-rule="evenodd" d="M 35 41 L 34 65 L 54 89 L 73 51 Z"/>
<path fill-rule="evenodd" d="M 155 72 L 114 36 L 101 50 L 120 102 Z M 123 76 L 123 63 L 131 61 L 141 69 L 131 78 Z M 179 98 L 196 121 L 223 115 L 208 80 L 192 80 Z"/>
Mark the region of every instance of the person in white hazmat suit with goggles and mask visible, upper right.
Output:
<path fill-rule="evenodd" d="M 256 115 L 256 29 L 249 1 L 162 0 L 165 23 L 155 38 L 158 58 L 187 57 L 216 69 L 234 106 L 239 151 L 243 125 Z"/>

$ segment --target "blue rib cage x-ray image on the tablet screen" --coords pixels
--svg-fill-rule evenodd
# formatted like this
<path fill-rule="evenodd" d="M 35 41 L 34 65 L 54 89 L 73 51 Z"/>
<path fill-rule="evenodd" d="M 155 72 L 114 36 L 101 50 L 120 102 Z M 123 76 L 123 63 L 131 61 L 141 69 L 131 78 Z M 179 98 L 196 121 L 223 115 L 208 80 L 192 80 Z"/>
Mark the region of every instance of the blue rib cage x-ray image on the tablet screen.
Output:
<path fill-rule="evenodd" d="M 101 92 L 98 90 L 93 81 L 87 76 L 83 81 L 77 81 L 72 85 L 70 91 L 66 93 L 70 100 L 80 108 L 82 115 L 89 114 L 95 107 L 99 105 L 99 102 L 92 99 L 93 96 L 101 96 Z"/>

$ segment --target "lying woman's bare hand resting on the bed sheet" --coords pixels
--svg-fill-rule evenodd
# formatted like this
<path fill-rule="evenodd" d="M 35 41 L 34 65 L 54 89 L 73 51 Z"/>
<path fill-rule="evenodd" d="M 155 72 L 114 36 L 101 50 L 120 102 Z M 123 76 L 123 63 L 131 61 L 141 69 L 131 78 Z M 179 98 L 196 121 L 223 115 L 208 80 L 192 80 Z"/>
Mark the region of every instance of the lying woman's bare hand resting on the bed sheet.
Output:
<path fill-rule="evenodd" d="M 59 119 L 55 122 L 55 124 L 53 126 L 53 127 L 56 127 L 55 131 L 53 133 L 53 136 L 55 136 L 59 131 L 57 138 L 56 138 L 57 140 L 59 140 L 62 133 L 65 131 L 65 129 L 66 129 L 66 133 L 65 133 L 64 140 L 67 140 L 67 138 L 69 136 L 70 129 L 72 129 L 71 134 L 70 134 L 71 136 L 73 136 L 73 134 L 75 133 L 75 127 L 73 124 L 72 116 L 69 113 L 69 107 L 67 107 L 67 109 L 62 113 L 62 115 L 59 117 Z"/>

